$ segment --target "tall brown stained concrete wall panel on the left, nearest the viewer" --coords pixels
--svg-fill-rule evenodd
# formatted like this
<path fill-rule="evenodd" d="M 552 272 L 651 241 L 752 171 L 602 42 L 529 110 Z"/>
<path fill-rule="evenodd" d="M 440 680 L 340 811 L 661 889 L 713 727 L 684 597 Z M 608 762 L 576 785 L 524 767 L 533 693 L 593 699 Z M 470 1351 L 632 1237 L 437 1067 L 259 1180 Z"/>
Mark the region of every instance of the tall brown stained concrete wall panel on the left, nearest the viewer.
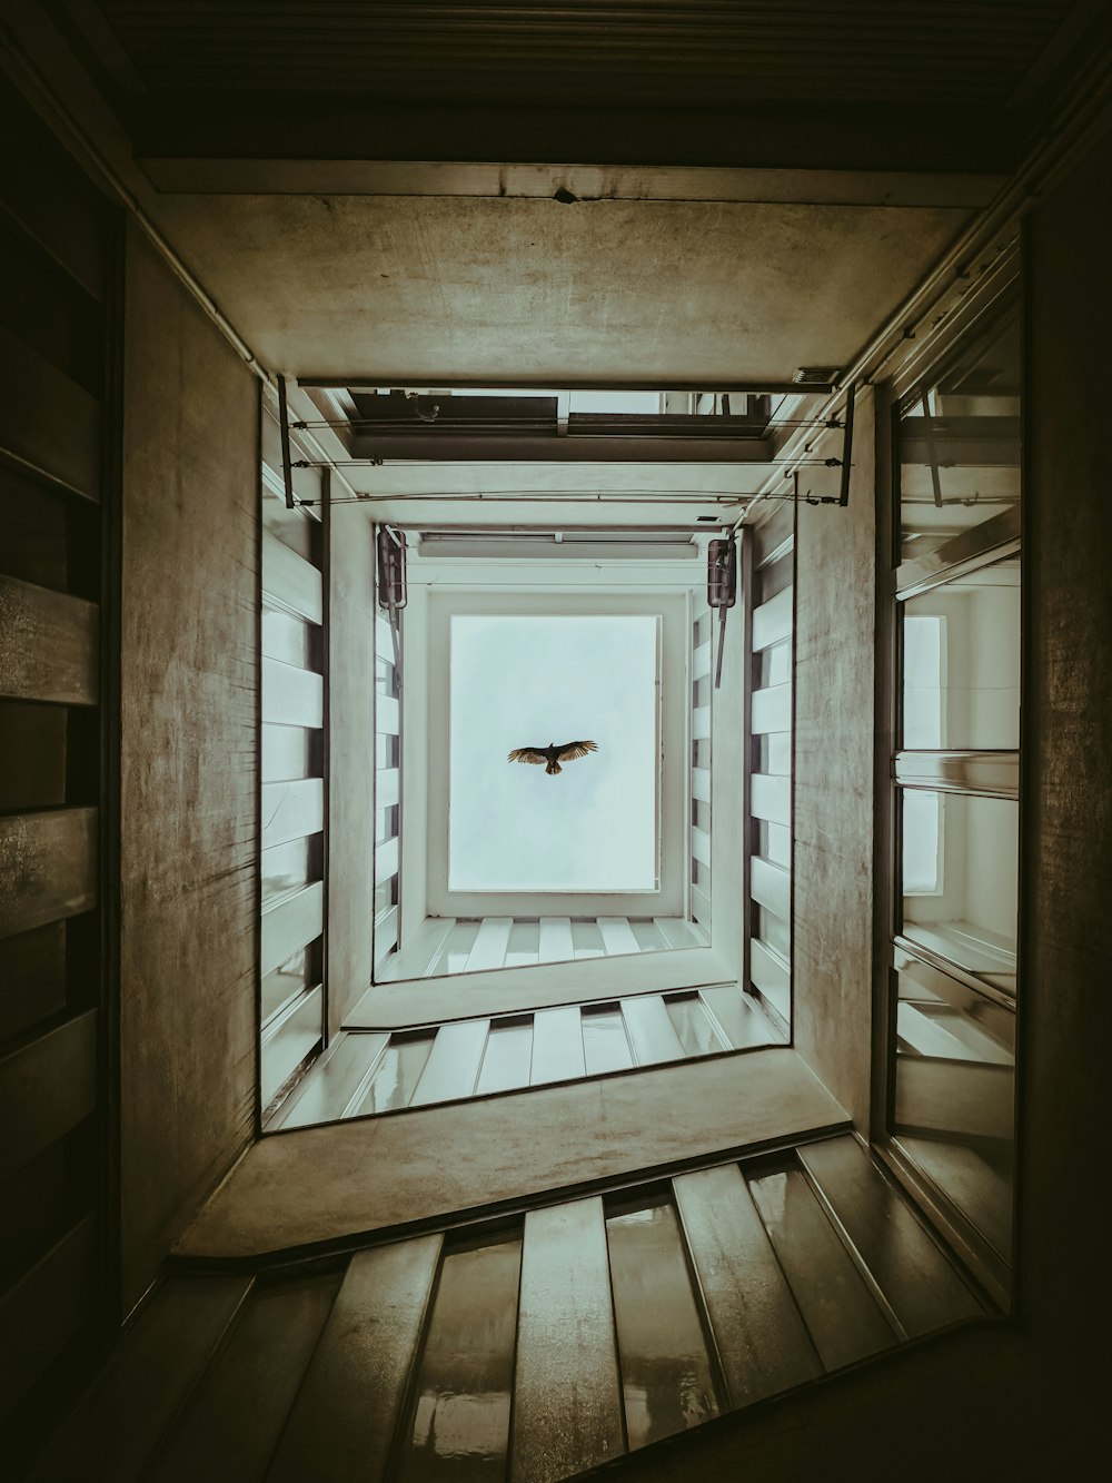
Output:
<path fill-rule="evenodd" d="M 128 236 L 122 574 L 125 1311 L 252 1132 L 258 389 Z"/>

